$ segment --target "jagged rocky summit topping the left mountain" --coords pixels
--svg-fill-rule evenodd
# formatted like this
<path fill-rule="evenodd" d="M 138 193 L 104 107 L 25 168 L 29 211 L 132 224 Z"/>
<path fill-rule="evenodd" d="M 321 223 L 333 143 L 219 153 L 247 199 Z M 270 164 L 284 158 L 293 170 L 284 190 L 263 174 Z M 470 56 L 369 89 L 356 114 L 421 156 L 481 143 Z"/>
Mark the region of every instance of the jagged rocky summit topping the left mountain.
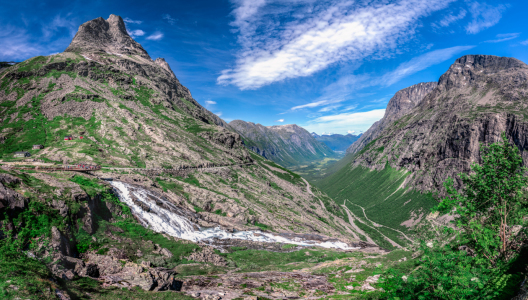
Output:
<path fill-rule="evenodd" d="M 110 15 L 107 20 L 99 17 L 79 26 L 77 34 L 64 52 L 136 54 L 150 59 L 147 51 L 128 35 L 123 19 L 116 15 Z"/>

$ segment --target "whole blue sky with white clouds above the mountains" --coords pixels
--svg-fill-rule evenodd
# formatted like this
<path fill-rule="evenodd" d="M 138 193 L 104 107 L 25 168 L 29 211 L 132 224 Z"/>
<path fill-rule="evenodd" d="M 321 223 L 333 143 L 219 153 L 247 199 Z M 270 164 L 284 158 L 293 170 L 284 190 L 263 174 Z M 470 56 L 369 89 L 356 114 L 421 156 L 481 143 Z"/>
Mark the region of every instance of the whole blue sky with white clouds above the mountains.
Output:
<path fill-rule="evenodd" d="M 523 0 L 1 1 L 2 61 L 62 52 L 116 14 L 224 120 L 319 134 L 367 130 L 395 92 L 462 55 L 528 62 Z"/>

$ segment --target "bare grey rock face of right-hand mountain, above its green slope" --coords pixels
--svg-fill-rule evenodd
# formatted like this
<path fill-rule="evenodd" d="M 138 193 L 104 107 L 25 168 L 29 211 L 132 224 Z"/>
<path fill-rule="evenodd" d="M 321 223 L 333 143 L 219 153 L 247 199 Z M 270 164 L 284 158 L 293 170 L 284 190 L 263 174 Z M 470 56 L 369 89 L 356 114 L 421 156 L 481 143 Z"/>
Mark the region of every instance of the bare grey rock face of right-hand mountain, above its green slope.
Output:
<path fill-rule="evenodd" d="M 528 66 L 517 59 L 461 57 L 436 88 L 383 129 L 352 165 L 382 169 L 388 161 L 412 173 L 408 186 L 441 190 L 448 177 L 458 178 L 480 161 L 481 143 L 497 142 L 504 132 L 528 166 L 527 82 Z"/>

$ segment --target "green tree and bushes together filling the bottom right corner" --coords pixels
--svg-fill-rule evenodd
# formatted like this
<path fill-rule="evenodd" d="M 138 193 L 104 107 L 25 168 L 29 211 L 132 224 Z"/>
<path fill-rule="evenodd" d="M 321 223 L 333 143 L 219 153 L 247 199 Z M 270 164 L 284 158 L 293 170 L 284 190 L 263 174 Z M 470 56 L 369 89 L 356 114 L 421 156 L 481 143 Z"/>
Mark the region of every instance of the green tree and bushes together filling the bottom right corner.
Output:
<path fill-rule="evenodd" d="M 457 230 L 444 227 L 438 242 L 422 240 L 419 267 L 410 274 L 385 272 L 382 287 L 390 299 L 511 299 L 526 272 L 528 169 L 517 147 L 502 142 L 481 148 L 482 165 L 460 174 L 463 189 L 445 183 L 448 197 L 437 207 L 454 214 Z M 512 229 L 518 226 L 519 231 Z M 452 238 L 450 238 L 452 236 Z M 447 242 L 445 242 L 447 241 Z M 461 251 L 463 249 L 463 251 Z"/>

